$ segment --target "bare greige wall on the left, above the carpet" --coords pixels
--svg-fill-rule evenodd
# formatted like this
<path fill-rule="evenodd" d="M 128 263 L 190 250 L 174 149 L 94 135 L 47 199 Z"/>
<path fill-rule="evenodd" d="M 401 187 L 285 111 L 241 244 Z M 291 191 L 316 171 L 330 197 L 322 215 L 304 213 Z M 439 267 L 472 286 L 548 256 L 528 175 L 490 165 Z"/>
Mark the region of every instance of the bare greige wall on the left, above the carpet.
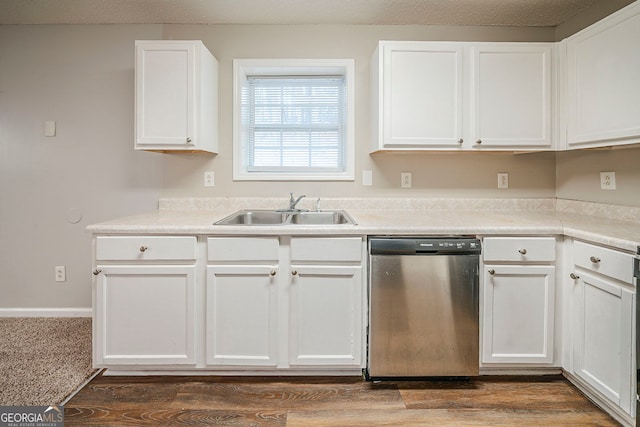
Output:
<path fill-rule="evenodd" d="M 162 156 L 133 151 L 133 40 L 161 35 L 0 26 L 0 308 L 90 307 L 85 227 L 157 208 Z"/>

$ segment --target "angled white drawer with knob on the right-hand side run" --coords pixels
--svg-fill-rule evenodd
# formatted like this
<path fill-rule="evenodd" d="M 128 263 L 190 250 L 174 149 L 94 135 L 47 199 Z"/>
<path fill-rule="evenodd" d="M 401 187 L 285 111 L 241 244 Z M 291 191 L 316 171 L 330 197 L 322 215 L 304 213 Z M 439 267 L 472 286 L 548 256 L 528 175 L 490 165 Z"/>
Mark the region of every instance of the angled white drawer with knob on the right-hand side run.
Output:
<path fill-rule="evenodd" d="M 623 252 L 583 242 L 573 244 L 574 262 L 577 266 L 605 276 L 633 283 L 633 256 Z"/>

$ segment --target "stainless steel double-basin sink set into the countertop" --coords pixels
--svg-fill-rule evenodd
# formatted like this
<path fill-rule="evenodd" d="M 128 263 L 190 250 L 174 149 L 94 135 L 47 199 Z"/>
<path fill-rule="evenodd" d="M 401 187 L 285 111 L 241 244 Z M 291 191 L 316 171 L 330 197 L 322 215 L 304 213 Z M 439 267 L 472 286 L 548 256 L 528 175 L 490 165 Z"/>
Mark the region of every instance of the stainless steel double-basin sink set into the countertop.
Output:
<path fill-rule="evenodd" d="M 241 210 L 214 225 L 355 225 L 345 211 Z"/>

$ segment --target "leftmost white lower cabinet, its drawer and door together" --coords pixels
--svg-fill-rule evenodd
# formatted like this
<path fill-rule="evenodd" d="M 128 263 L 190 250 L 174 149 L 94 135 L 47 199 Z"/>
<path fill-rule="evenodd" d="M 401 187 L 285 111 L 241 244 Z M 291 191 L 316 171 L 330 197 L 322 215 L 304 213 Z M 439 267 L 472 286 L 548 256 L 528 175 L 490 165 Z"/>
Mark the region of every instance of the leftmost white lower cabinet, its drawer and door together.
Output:
<path fill-rule="evenodd" d="M 195 366 L 195 236 L 97 236 L 94 245 L 94 366 Z"/>

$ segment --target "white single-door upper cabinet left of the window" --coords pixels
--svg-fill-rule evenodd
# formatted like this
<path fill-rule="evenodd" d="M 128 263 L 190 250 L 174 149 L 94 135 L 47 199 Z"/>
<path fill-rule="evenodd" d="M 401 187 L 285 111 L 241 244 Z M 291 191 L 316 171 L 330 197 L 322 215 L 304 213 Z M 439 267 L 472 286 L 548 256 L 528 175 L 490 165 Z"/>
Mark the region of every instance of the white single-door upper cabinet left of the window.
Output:
<path fill-rule="evenodd" d="M 218 151 L 218 62 L 201 41 L 136 41 L 138 150 Z"/>

